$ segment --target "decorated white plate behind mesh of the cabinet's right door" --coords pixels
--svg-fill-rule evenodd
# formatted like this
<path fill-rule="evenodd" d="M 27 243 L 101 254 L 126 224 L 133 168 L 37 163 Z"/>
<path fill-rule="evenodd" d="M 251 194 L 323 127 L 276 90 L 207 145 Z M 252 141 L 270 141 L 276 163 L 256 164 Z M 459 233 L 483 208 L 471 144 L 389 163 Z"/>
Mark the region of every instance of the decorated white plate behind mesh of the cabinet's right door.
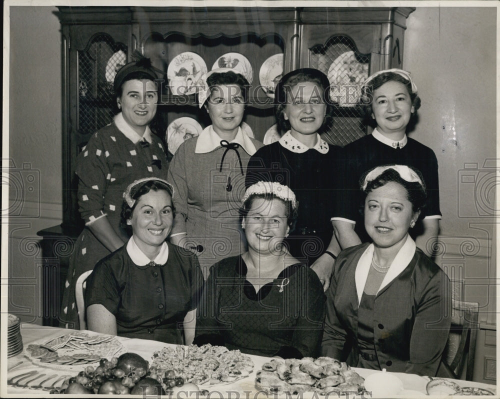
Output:
<path fill-rule="evenodd" d="M 355 106 L 361 95 L 361 85 L 368 77 L 368 63 L 359 62 L 354 51 L 340 54 L 328 69 L 330 99 L 341 106 Z"/>

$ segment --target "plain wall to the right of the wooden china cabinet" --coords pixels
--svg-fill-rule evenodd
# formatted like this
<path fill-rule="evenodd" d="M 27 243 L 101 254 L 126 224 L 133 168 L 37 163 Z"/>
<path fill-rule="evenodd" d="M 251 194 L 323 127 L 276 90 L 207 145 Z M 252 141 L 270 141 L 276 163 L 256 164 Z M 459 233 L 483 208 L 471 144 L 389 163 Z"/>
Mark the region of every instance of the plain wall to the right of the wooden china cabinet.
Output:
<path fill-rule="evenodd" d="M 437 262 L 464 281 L 480 319 L 494 323 L 496 282 L 487 277 L 496 266 L 496 8 L 417 7 L 407 19 L 403 66 L 422 101 L 410 136 L 439 164 Z"/>

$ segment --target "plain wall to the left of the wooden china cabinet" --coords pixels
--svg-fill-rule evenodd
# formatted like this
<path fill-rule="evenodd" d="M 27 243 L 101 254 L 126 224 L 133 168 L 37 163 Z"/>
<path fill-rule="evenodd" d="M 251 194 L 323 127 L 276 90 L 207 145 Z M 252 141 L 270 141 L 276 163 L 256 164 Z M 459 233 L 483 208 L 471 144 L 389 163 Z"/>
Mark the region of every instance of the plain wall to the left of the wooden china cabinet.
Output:
<path fill-rule="evenodd" d="M 55 7 L 9 10 L 8 311 L 39 323 L 36 232 L 62 220 L 60 25 Z"/>

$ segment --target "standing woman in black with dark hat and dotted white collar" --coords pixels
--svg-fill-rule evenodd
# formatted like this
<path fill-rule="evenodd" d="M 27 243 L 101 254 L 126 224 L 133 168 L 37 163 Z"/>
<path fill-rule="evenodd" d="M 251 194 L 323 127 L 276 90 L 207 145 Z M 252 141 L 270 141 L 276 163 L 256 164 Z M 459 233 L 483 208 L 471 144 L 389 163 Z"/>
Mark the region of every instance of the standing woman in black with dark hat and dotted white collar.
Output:
<path fill-rule="evenodd" d="M 290 253 L 312 266 L 326 289 L 336 254 L 330 218 L 336 195 L 339 148 L 321 139 L 330 109 L 328 78 L 313 68 L 286 73 L 276 86 L 279 141 L 260 148 L 248 162 L 245 186 L 276 181 L 295 192 L 300 203 L 296 227 L 285 239 Z"/>

